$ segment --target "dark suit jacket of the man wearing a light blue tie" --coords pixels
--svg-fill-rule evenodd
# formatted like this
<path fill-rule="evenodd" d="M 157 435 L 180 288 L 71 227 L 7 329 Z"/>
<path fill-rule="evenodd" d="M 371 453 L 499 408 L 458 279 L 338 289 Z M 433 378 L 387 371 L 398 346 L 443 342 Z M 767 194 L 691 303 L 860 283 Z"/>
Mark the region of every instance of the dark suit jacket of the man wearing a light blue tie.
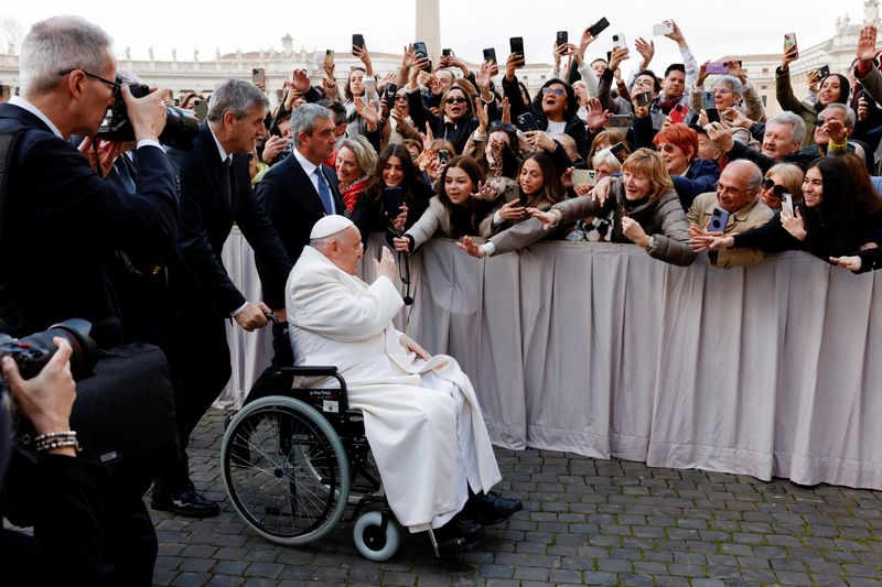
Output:
<path fill-rule="evenodd" d="M 334 207 L 337 214 L 343 215 L 346 206 L 340 195 L 337 175 L 324 163 L 322 163 L 322 171 L 331 186 Z M 270 222 L 279 233 L 288 257 L 295 263 L 303 247 L 310 242 L 312 227 L 325 214 L 319 193 L 312 185 L 312 180 L 293 154 L 270 167 L 263 175 L 257 186 L 257 199 L 267 210 Z M 262 262 L 258 262 L 257 269 L 262 280 L 267 268 Z"/>

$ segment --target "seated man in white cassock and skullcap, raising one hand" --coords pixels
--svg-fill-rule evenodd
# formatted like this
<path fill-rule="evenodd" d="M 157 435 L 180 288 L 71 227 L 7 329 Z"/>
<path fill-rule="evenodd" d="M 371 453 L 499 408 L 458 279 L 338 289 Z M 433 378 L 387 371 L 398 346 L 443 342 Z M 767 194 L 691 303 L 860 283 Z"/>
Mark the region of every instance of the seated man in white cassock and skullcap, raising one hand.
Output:
<path fill-rule="evenodd" d="M 345 378 L 399 523 L 476 543 L 482 526 L 523 506 L 490 493 L 502 476 L 469 378 L 392 326 L 404 301 L 391 252 L 374 261 L 370 285 L 355 276 L 362 254 L 348 219 L 325 216 L 313 227 L 287 284 L 295 362 L 334 365 Z"/>

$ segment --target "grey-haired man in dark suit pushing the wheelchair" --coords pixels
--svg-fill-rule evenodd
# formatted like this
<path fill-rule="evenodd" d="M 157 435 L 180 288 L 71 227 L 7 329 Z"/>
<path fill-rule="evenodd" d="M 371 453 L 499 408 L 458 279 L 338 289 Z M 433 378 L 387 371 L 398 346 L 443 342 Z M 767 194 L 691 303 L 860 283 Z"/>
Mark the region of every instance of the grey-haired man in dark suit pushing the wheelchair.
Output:
<path fill-rule="evenodd" d="M 179 316 L 172 374 L 184 398 L 176 402 L 181 453 L 154 486 L 151 506 L 179 515 L 216 515 L 216 503 L 196 493 L 190 480 L 190 434 L 230 376 L 224 320 L 245 330 L 267 324 L 265 313 L 284 315 L 284 282 L 291 262 L 251 191 L 248 153 L 263 135 L 267 98 L 248 81 L 229 79 L 212 94 L 208 118 L 200 124 L 192 151 L 172 150 L 179 171 L 181 230 L 179 258 L 169 263 L 169 281 Z M 220 261 L 224 242 L 236 222 L 261 263 L 266 304 L 248 301 L 229 280 Z"/>

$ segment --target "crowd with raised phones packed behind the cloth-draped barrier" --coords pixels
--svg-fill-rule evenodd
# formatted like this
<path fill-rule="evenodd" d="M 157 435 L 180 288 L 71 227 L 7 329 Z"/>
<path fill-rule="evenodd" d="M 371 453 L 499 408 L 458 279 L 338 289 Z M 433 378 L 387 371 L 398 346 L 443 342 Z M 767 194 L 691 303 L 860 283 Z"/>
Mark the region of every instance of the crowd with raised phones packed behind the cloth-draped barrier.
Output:
<path fill-rule="evenodd" d="M 365 242 L 383 232 L 402 253 L 435 235 L 475 257 L 557 238 L 636 243 L 680 265 L 697 251 L 731 268 L 799 249 L 853 271 L 873 268 L 882 185 L 875 29 L 861 30 L 846 75 L 810 72 L 803 100 L 789 77 L 798 47 L 788 46 L 776 72 L 784 111 L 766 118 L 741 62 L 699 63 L 677 23 L 666 25 L 682 63 L 664 76 L 650 69 L 653 41 L 592 58 L 588 28 L 578 44 L 555 46 L 536 96 L 517 78 L 519 54 L 472 70 L 453 51 L 431 64 L 408 45 L 398 70 L 377 73 L 367 46 L 354 45 L 363 65 L 342 84 L 333 61 L 319 85 L 305 72 L 286 83 L 249 155 L 258 199 L 281 238 L 300 242 L 287 247 L 292 260 L 312 221 L 342 214 Z M 641 61 L 623 78 L 633 51 Z M 316 161 L 329 166 L 340 207 L 294 203 L 277 187 L 276 170 L 300 148 L 302 127 L 291 120 L 305 104 L 331 113 L 333 137 Z M 310 214 L 292 220 L 303 208 Z"/>

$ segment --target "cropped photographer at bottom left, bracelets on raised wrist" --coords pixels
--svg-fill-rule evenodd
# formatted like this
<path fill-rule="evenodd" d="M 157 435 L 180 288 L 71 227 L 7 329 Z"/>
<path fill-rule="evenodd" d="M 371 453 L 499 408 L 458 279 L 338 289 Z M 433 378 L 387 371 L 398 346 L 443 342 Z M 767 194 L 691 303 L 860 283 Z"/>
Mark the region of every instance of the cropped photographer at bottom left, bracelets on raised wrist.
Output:
<path fill-rule="evenodd" d="M 3 378 L 17 410 L 33 425 L 36 445 L 36 499 L 42 508 L 30 536 L 0 530 L 3 579 L 9 585 L 97 585 L 105 546 L 105 471 L 76 458 L 71 407 L 76 396 L 71 374 L 71 345 L 55 337 L 57 352 L 33 379 L 23 379 L 11 357 L 3 357 Z M 0 478 L 10 453 L 10 420 L 0 411 Z"/>

